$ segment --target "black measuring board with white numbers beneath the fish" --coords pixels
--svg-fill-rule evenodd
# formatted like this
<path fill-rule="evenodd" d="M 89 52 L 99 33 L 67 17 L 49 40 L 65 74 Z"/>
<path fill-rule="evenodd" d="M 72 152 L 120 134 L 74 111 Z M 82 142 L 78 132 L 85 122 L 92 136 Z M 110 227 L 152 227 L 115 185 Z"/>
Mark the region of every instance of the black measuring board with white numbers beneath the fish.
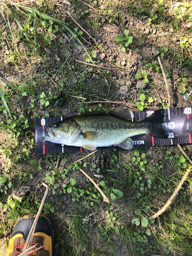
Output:
<path fill-rule="evenodd" d="M 155 138 L 147 135 L 137 135 L 130 137 L 134 142 L 134 147 L 143 146 L 161 146 L 172 144 L 188 144 L 191 143 L 192 136 L 192 113 L 191 106 L 181 108 L 165 109 L 166 121 L 165 124 L 169 129 L 167 139 Z M 134 119 L 132 121 L 142 121 L 147 116 L 150 116 L 157 110 L 137 111 L 134 112 Z M 46 127 L 68 117 L 45 117 L 35 118 L 35 153 L 40 154 L 60 154 L 70 152 L 83 151 L 82 147 L 67 146 L 63 144 L 56 144 L 49 141 L 42 140 L 42 137 L 47 136 Z M 108 150 L 112 148 L 121 148 L 116 145 L 97 147 L 97 149 Z M 122 148 L 121 148 L 122 149 Z"/>

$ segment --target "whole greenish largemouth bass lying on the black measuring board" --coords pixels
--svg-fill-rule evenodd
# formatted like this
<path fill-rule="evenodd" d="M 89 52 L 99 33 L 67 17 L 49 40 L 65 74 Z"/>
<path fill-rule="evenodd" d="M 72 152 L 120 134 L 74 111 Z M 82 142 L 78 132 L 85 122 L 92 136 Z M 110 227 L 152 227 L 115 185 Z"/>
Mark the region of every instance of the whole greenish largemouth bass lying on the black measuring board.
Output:
<path fill-rule="evenodd" d="M 158 110 L 140 122 L 129 121 L 133 112 L 119 106 L 108 114 L 89 114 L 70 117 L 46 127 L 49 136 L 42 139 L 53 143 L 81 146 L 91 152 L 99 146 L 116 144 L 126 150 L 133 147 L 135 135 L 147 134 L 157 138 L 167 138 L 168 129 L 164 125 L 165 110 Z"/>

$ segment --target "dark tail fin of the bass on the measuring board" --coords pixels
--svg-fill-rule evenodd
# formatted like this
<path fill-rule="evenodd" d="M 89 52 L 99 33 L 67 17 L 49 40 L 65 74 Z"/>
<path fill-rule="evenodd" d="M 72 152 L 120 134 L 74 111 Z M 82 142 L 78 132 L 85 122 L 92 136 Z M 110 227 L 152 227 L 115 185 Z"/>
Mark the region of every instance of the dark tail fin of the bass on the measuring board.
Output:
<path fill-rule="evenodd" d="M 165 126 L 166 113 L 165 110 L 155 111 L 151 116 L 148 116 L 145 121 L 148 122 L 148 135 L 156 138 L 168 138 L 168 129 Z"/>

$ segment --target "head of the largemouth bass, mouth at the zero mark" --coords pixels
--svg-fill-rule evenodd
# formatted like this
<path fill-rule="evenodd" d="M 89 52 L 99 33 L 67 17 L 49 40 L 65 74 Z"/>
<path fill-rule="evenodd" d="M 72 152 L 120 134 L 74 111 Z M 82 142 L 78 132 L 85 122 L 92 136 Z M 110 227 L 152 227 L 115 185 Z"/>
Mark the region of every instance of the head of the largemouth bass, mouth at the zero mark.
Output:
<path fill-rule="evenodd" d="M 46 127 L 48 136 L 43 137 L 53 143 L 70 144 L 77 140 L 80 126 L 75 121 L 64 120 Z"/>

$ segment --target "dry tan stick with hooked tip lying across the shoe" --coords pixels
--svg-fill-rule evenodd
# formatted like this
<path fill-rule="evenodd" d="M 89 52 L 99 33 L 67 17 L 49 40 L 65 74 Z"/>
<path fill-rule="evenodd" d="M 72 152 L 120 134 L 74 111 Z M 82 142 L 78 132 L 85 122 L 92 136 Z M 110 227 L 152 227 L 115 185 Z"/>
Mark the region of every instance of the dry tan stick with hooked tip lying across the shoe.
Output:
<path fill-rule="evenodd" d="M 31 241 L 32 241 L 32 238 L 33 238 L 33 234 L 35 232 L 35 227 L 36 227 L 36 224 L 37 224 L 37 221 L 38 221 L 38 218 L 39 218 L 39 215 L 40 215 L 40 212 L 42 210 L 42 207 L 44 206 L 44 203 L 45 203 L 45 200 L 46 200 L 46 197 L 47 197 L 47 194 L 48 194 L 48 189 L 49 189 L 49 186 L 47 184 L 45 184 L 44 182 L 42 182 L 42 185 L 44 185 L 46 187 L 46 191 L 45 191 L 45 195 L 44 197 L 42 198 L 42 201 L 41 201 L 41 204 L 40 204 L 40 207 L 38 209 L 38 212 L 37 212 L 37 215 L 35 217 L 35 220 L 33 222 L 33 225 L 31 227 L 31 230 L 29 232 L 29 235 L 28 235 L 28 238 L 27 238 L 27 241 L 25 243 L 25 246 L 24 246 L 24 252 L 29 249 L 30 245 L 31 245 Z"/>

